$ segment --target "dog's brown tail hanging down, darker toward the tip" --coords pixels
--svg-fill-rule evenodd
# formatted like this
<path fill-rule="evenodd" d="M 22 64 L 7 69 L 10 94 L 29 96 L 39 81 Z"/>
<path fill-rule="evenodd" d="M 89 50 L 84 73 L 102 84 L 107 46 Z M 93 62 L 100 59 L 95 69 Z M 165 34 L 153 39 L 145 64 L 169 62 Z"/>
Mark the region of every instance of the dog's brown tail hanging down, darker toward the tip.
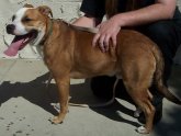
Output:
<path fill-rule="evenodd" d="M 163 83 L 165 61 L 162 54 L 157 45 L 152 47 L 152 53 L 156 58 L 156 71 L 154 76 L 154 83 L 156 84 L 158 91 L 160 91 L 166 99 L 168 99 L 169 101 L 176 104 L 181 105 L 181 100 L 177 98 L 173 93 L 171 93 Z"/>

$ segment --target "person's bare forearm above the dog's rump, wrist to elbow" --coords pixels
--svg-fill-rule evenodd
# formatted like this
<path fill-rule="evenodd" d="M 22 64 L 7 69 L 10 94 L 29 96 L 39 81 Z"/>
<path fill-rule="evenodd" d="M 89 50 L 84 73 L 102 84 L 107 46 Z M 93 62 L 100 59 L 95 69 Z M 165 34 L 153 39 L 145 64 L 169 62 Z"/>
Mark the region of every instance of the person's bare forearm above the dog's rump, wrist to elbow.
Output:
<path fill-rule="evenodd" d="M 171 7 L 168 7 L 165 3 L 158 2 L 136 11 L 116 14 L 112 18 L 112 20 L 117 21 L 120 26 L 135 26 L 159 20 L 171 19 L 173 16 L 174 10 L 174 3 L 172 3 Z"/>

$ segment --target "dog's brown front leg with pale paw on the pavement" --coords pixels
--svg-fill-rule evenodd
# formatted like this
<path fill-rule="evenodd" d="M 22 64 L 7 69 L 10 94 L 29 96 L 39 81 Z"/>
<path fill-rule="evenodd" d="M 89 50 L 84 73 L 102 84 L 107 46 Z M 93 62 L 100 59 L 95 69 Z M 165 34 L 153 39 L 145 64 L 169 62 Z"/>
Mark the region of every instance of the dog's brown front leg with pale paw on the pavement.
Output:
<path fill-rule="evenodd" d="M 55 80 L 58 86 L 60 112 L 59 112 L 58 116 L 55 116 L 53 118 L 53 123 L 59 124 L 59 123 L 63 123 L 63 121 L 68 112 L 68 97 L 69 97 L 70 79 L 69 79 L 69 77 L 65 77 L 61 79 L 55 78 Z"/>

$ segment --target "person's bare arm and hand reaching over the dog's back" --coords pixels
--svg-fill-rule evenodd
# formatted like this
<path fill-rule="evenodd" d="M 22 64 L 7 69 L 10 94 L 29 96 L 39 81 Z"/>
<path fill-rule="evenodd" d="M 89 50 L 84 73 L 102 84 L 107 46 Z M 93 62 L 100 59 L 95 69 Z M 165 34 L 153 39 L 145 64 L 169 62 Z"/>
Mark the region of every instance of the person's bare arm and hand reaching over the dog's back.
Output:
<path fill-rule="evenodd" d="M 99 33 L 95 34 L 92 42 L 93 46 L 99 43 L 102 52 L 105 52 L 109 49 L 110 39 L 114 46 L 116 45 L 116 35 L 121 27 L 172 19 L 176 3 L 177 0 L 156 0 L 155 4 L 112 16 L 99 25 Z"/>

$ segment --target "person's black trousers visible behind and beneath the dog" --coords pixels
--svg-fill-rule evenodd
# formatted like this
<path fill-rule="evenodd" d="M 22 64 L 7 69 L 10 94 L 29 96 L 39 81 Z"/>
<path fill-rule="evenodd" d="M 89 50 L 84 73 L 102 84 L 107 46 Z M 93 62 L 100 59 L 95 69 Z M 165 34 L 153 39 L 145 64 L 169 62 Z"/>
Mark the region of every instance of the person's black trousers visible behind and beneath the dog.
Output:
<path fill-rule="evenodd" d="M 168 20 L 140 26 L 137 29 L 137 31 L 152 39 L 162 52 L 165 58 L 163 82 L 167 86 L 167 80 L 169 79 L 171 66 L 173 64 L 172 58 L 176 55 L 177 48 L 181 44 L 181 25 L 177 22 Z M 97 97 L 111 99 L 114 81 L 115 77 L 95 77 L 91 80 L 91 89 Z M 162 95 L 157 91 L 157 89 L 151 86 L 149 90 L 154 94 L 152 104 L 157 106 L 158 104 L 162 103 Z M 120 80 L 116 87 L 115 95 L 133 102 L 129 95 L 126 93 L 122 80 Z"/>

